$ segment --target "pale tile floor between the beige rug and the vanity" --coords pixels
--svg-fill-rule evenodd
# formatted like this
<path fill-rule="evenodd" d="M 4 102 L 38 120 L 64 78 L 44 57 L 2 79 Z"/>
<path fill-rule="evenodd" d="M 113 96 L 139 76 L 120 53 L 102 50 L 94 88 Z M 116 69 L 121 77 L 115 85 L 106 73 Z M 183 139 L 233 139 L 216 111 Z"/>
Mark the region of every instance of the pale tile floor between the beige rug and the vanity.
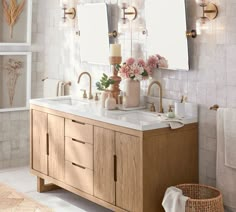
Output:
<path fill-rule="evenodd" d="M 36 191 L 36 177 L 29 173 L 28 167 L 0 170 L 0 182 L 56 212 L 111 212 L 63 189 L 38 193 Z"/>

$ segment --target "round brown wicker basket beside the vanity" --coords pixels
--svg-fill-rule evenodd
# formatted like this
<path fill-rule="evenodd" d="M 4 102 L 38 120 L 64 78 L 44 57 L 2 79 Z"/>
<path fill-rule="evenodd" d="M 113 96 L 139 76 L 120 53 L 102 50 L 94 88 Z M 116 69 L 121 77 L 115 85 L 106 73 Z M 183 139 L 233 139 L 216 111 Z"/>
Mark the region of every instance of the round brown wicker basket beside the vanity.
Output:
<path fill-rule="evenodd" d="M 181 184 L 176 187 L 189 197 L 185 212 L 224 212 L 223 198 L 219 190 L 199 184 Z"/>

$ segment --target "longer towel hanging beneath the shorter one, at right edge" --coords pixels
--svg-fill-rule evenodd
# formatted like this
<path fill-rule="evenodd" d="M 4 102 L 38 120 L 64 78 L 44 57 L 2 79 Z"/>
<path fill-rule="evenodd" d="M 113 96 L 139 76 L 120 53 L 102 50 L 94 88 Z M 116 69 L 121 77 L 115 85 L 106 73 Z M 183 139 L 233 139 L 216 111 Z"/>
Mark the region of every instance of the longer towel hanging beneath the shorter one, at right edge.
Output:
<path fill-rule="evenodd" d="M 219 108 L 217 110 L 216 187 L 223 194 L 224 205 L 234 209 L 232 211 L 236 211 L 236 169 L 225 165 L 225 120 L 225 109 Z M 232 125 L 232 127 L 234 126 Z M 227 154 L 230 154 L 229 150 L 227 150 Z"/>

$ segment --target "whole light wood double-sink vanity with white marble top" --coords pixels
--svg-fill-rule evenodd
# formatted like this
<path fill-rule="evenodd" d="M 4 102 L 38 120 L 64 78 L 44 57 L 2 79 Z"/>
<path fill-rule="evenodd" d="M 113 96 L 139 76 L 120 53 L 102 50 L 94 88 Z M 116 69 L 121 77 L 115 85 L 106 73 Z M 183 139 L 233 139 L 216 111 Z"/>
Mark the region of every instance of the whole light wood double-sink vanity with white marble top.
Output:
<path fill-rule="evenodd" d="M 167 187 L 198 182 L 197 117 L 171 130 L 154 113 L 71 97 L 31 100 L 30 111 L 39 192 L 61 187 L 112 211 L 157 212 Z"/>

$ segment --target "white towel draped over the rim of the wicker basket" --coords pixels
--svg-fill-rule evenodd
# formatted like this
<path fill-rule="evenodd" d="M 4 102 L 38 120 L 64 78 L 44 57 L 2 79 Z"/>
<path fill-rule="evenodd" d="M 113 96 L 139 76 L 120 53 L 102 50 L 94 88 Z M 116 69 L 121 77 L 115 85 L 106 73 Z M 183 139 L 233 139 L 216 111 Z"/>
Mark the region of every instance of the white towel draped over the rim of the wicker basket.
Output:
<path fill-rule="evenodd" d="M 188 199 L 188 197 L 183 195 L 182 190 L 172 186 L 166 190 L 162 206 L 165 212 L 185 212 Z"/>

